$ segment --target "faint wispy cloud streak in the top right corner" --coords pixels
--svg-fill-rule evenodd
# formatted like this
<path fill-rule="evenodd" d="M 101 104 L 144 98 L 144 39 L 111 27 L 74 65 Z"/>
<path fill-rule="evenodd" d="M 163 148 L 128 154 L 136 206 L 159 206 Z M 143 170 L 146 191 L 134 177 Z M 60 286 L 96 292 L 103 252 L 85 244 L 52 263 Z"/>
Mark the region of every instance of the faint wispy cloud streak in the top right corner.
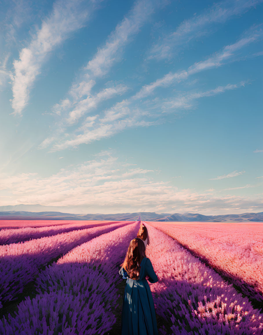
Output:
<path fill-rule="evenodd" d="M 175 53 L 192 39 L 210 35 L 218 24 L 225 23 L 233 16 L 242 15 L 260 3 L 262 0 L 231 0 L 216 3 L 200 15 L 194 15 L 183 21 L 175 31 L 160 38 L 150 50 L 148 59 L 163 60 L 174 57 Z"/>

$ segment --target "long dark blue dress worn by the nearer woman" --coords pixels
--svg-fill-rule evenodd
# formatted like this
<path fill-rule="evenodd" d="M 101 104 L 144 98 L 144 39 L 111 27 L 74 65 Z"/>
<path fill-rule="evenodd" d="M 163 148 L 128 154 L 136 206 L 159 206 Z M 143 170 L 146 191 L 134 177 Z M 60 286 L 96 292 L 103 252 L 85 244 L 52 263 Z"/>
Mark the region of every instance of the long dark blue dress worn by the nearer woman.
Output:
<path fill-rule="evenodd" d="M 158 335 L 153 296 L 145 278 L 149 276 L 150 283 L 158 281 L 152 262 L 147 257 L 143 258 L 138 280 L 129 278 L 124 269 L 121 273 L 123 278 L 127 278 L 122 303 L 121 335 Z"/>

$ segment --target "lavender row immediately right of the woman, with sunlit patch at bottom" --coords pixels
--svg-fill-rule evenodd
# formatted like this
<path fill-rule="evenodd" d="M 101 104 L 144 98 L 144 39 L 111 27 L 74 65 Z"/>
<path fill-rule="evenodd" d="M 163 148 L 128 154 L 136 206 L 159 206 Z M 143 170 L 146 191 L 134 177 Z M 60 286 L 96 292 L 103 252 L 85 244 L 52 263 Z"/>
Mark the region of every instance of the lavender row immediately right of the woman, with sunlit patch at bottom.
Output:
<path fill-rule="evenodd" d="M 165 233 L 146 226 L 151 241 L 146 253 L 159 278 L 151 285 L 156 310 L 171 324 L 161 334 L 263 333 L 263 314 L 247 297 Z"/>

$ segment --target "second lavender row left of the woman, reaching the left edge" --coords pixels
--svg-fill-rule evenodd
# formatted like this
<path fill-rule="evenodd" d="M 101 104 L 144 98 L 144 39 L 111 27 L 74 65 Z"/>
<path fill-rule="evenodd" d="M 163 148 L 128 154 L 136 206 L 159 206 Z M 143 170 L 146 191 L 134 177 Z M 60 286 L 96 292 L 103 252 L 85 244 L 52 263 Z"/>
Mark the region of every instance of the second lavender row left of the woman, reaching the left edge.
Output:
<path fill-rule="evenodd" d="M 52 259 L 126 222 L 75 230 L 52 237 L 0 246 L 0 296 L 2 303 L 17 298 L 39 268 Z"/>

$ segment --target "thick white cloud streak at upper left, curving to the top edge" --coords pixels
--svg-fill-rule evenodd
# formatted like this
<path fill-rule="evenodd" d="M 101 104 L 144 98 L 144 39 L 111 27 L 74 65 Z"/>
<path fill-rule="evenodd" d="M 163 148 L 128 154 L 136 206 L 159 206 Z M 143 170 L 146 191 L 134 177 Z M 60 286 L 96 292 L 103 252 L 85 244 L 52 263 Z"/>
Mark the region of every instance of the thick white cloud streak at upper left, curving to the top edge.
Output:
<path fill-rule="evenodd" d="M 12 114 L 21 114 L 28 102 L 35 78 L 41 72 L 42 64 L 54 48 L 84 26 L 94 5 L 95 2 L 90 3 L 87 9 L 82 0 L 59 0 L 54 3 L 49 17 L 43 20 L 29 46 L 20 51 L 19 60 L 13 63 Z"/>

